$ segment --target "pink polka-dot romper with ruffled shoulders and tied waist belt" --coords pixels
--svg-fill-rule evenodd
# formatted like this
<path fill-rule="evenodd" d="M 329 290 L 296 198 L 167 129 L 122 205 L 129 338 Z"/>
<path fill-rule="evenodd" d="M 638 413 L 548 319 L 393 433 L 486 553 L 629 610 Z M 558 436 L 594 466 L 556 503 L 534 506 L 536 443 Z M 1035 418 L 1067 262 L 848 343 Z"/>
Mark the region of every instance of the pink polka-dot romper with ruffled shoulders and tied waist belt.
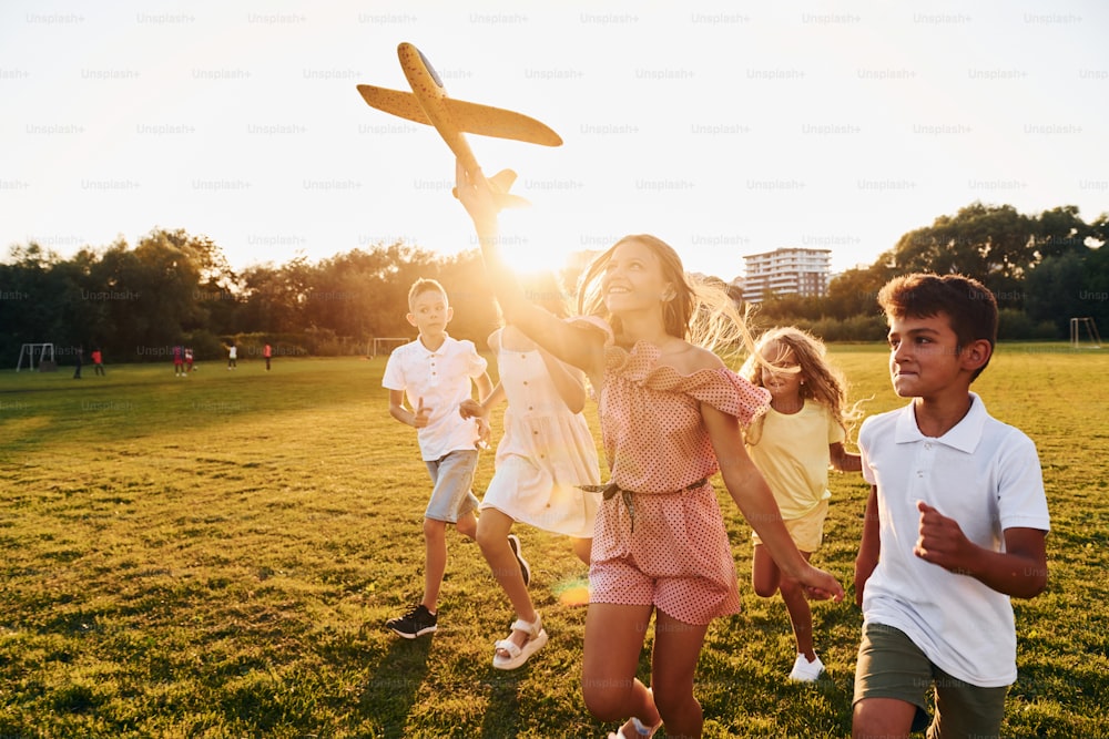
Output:
<path fill-rule="evenodd" d="M 660 356 L 642 341 L 630 352 L 606 348 L 601 435 L 610 483 L 621 492 L 597 513 L 591 602 L 654 605 L 679 620 L 708 624 L 737 613 L 740 594 L 709 482 L 720 468 L 700 404 L 747 425 L 770 407 L 770 393 L 726 368 L 681 374 L 660 365 Z"/>

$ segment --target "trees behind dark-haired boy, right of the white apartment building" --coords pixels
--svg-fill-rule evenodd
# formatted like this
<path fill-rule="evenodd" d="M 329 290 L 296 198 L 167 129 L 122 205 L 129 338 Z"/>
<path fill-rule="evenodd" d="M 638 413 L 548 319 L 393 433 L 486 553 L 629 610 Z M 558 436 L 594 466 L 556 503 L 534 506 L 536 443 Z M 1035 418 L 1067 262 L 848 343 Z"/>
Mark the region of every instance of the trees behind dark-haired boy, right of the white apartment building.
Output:
<path fill-rule="evenodd" d="M 821 298 L 771 296 L 763 324 L 792 322 L 828 341 L 881 339 L 876 304 L 891 278 L 914 271 L 959 273 L 997 299 L 1003 339 L 1061 339 L 1071 318 L 1109 325 L 1109 213 L 1092 223 L 1065 205 L 1025 215 L 975 202 L 954 216 L 903 235 L 868 267 L 848 269 Z"/>

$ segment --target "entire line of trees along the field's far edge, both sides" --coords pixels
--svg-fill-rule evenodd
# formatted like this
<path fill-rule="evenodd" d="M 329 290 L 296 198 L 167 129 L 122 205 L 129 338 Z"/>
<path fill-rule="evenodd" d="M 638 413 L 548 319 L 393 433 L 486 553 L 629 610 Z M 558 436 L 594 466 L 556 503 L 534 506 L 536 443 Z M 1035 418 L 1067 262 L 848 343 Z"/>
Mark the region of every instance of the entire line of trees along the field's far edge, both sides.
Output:
<path fill-rule="evenodd" d="M 875 298 L 891 277 L 958 271 L 993 290 L 1003 338 L 1064 338 L 1072 317 L 1109 326 L 1107 240 L 1109 214 L 1086 223 L 1075 206 L 1025 215 L 973 203 L 905 234 L 871 266 L 837 276 L 824 297 L 770 296 L 755 320 L 795 324 L 830 341 L 879 340 Z M 244 356 L 252 341 L 285 355 L 359 355 L 374 337 L 413 336 L 405 314 L 418 277 L 446 287 L 454 336 L 480 345 L 498 325 L 476 252 L 444 257 L 379 244 L 235 271 L 218 245 L 183 229 L 154 229 L 133 247 L 121 238 L 70 258 L 31 242 L 0 263 L 0 357 L 12 367 L 22 343 L 45 341 L 62 363 L 78 348 L 126 362 L 167 360 L 184 343 L 199 359 L 214 359 L 231 342 Z M 576 274 L 562 277 L 572 286 Z"/>

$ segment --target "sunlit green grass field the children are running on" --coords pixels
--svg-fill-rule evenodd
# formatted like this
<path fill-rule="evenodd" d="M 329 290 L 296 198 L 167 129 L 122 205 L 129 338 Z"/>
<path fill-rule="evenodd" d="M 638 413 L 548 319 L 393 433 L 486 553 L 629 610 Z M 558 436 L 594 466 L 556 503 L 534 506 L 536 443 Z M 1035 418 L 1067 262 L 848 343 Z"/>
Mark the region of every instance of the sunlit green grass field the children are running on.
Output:
<path fill-rule="evenodd" d="M 832 355 L 854 397 L 873 396 L 868 413 L 902 404 L 883 347 Z M 578 688 L 584 608 L 558 594 L 584 567 L 563 540 L 519 527 L 551 636 L 519 670 L 491 667 L 512 615 L 457 534 L 439 632 L 406 642 L 385 630 L 421 591 L 429 481 L 415 433 L 388 415 L 384 363 L 205 363 L 187 379 L 167 362 L 109 366 L 106 378 L 87 367 L 82 380 L 65 368 L 0 372 L 0 737 L 614 730 L 591 719 Z M 1037 442 L 1054 525 L 1048 591 L 1016 602 L 1007 737 L 1109 736 L 1107 371 L 1109 350 L 1007 345 L 974 387 Z M 479 495 L 491 475 L 487 453 Z M 833 474 L 832 490 L 814 562 L 849 586 L 866 487 Z M 826 676 L 787 682 L 784 607 L 745 584 L 749 528 L 720 496 L 745 610 L 709 630 L 696 685 L 705 736 L 848 736 L 852 595 L 814 606 Z"/>

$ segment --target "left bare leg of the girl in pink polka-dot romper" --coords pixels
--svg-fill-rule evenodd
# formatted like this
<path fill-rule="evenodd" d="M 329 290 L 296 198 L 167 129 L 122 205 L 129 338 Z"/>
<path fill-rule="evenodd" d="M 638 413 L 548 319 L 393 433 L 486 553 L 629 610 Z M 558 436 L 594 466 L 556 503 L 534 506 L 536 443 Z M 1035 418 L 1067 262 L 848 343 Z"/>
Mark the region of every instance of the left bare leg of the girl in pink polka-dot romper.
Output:
<path fill-rule="evenodd" d="M 651 691 L 635 679 L 653 609 L 653 606 L 589 604 L 581 695 L 589 712 L 601 721 L 634 716 L 647 726 L 654 726 L 660 720 Z"/>

